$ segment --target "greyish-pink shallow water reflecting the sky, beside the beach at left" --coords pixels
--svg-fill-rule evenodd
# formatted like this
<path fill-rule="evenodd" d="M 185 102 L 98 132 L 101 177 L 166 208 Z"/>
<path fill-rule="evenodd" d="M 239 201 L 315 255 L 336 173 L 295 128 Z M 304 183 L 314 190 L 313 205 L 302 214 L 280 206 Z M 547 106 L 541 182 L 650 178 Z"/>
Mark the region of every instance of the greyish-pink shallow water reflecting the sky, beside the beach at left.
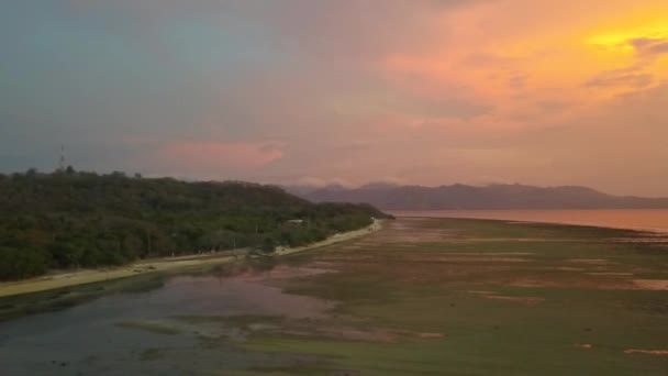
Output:
<path fill-rule="evenodd" d="M 127 288 L 113 290 L 86 287 L 88 292 L 113 294 L 94 299 L 90 294 L 82 303 L 56 305 L 52 308 L 58 311 L 0 323 L 1 374 L 178 375 L 186 369 L 218 369 L 222 363 L 226 369 L 254 362 L 279 365 L 286 360 L 247 354 L 234 341 L 247 334 L 240 329 L 240 318 L 266 327 L 271 320 L 318 318 L 333 307 L 283 294 L 281 280 L 331 272 L 324 265 L 292 263 L 299 265 L 264 257 L 208 272 L 156 277 L 135 287 L 130 287 L 130 280 L 124 285 Z M 84 295 L 81 290 L 58 294 L 52 298 Z M 31 298 L 44 307 L 44 295 Z"/>

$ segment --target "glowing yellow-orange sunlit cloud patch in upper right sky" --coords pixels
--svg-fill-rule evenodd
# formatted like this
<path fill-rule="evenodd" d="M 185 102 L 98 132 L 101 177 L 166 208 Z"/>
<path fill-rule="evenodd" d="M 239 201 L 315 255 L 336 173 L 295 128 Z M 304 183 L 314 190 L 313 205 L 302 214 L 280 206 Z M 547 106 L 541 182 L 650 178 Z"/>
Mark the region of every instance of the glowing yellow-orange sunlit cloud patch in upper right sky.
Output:
<path fill-rule="evenodd" d="M 438 84 L 461 86 L 508 115 L 531 111 L 527 101 L 566 97 L 581 107 L 600 106 L 668 78 L 668 54 L 644 55 L 633 42 L 668 42 L 665 1 L 508 0 L 435 19 L 447 42 L 434 37 L 420 53 L 390 54 L 383 62 L 388 77 L 427 92 Z M 611 74 L 619 69 L 630 70 Z M 654 77 L 633 79 L 643 75 Z M 409 82 L 401 82 L 405 76 Z M 587 85 L 597 77 L 601 82 Z M 422 88 L 416 80 L 425 81 Z"/>

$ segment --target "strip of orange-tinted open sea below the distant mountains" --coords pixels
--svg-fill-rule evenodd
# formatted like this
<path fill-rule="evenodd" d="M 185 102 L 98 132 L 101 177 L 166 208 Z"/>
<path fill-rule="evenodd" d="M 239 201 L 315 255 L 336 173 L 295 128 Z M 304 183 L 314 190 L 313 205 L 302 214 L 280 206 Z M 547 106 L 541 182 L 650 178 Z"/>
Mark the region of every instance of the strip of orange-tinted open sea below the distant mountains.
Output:
<path fill-rule="evenodd" d="M 668 233 L 668 210 L 436 210 L 396 211 L 397 217 L 471 218 L 595 225 Z"/>

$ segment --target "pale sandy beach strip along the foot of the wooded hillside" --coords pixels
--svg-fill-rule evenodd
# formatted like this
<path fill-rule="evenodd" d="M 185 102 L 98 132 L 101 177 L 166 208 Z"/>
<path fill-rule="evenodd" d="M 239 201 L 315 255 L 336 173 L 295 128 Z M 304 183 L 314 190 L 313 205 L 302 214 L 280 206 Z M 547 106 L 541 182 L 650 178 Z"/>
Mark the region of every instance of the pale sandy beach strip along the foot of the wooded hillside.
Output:
<path fill-rule="evenodd" d="M 360 229 L 345 233 L 334 234 L 324 241 L 299 246 L 294 248 L 280 247 L 270 257 L 280 257 L 286 255 L 292 255 L 300 252 L 311 251 L 321 248 L 324 246 L 337 244 L 341 242 L 350 241 L 354 239 L 361 237 L 367 234 L 371 234 L 383 228 L 383 221 L 374 220 L 374 223 Z M 23 279 L 18 281 L 5 281 L 0 283 L 0 298 L 15 297 L 25 294 L 42 292 L 48 290 L 55 290 L 65 287 L 81 286 L 93 283 L 100 283 L 105 280 L 114 280 L 126 277 L 167 273 L 167 272 L 179 272 L 188 270 L 193 268 L 200 268 L 204 266 L 215 266 L 219 264 L 232 263 L 238 259 L 240 255 L 246 255 L 247 252 L 241 250 L 223 251 L 219 254 L 203 254 L 203 255 L 189 255 L 178 257 L 162 257 L 145 259 L 133 264 L 113 267 L 113 268 L 100 268 L 100 269 L 81 269 L 76 272 L 66 272 L 59 274 L 45 275 L 41 277 L 34 277 L 30 279 Z"/>

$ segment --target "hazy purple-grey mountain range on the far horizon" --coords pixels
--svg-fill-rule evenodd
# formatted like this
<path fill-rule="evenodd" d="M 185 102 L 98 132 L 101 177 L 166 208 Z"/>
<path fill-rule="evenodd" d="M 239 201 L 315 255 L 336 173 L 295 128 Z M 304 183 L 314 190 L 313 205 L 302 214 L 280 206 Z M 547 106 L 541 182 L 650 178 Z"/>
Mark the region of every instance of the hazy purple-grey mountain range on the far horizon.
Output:
<path fill-rule="evenodd" d="M 475 187 L 457 184 L 422 187 L 371 184 L 349 189 L 325 187 L 302 190 L 299 196 L 313 202 L 365 202 L 382 210 L 668 208 L 668 198 L 619 197 L 576 186 Z"/>

